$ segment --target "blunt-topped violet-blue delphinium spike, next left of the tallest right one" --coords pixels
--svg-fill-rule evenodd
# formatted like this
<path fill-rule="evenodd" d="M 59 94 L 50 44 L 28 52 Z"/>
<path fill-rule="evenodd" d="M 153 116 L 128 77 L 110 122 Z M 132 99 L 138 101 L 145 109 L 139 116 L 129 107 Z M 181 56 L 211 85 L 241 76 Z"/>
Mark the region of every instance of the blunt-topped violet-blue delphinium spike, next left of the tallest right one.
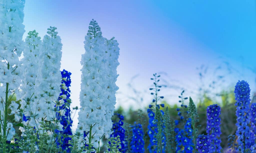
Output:
<path fill-rule="evenodd" d="M 210 153 L 220 152 L 220 106 L 217 104 L 207 107 L 206 133 L 210 138 Z"/>

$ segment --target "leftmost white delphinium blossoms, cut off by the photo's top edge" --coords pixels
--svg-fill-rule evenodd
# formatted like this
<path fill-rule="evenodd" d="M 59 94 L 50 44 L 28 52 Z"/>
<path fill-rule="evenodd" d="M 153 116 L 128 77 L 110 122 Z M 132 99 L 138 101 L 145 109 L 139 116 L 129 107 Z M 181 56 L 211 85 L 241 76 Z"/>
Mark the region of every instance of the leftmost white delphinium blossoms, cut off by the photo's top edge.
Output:
<path fill-rule="evenodd" d="M 25 0 L 0 1 L 0 95 L 14 95 L 13 93 L 18 90 L 20 85 L 21 70 L 19 69 L 19 57 L 24 49 L 22 36 L 25 32 L 25 26 L 22 24 L 24 18 L 24 3 Z M 11 100 L 16 100 L 16 98 L 6 98 L 0 101 L 2 122 L 4 120 L 6 121 L 6 119 L 4 119 L 6 106 L 11 109 L 12 113 L 17 111 L 16 107 L 11 106 L 15 103 Z M 9 106 L 9 103 L 12 104 Z M 18 119 L 19 116 L 16 115 L 15 120 L 17 121 Z M 4 123 L 1 123 L 1 125 L 3 124 Z M 4 127 L 1 126 L 2 134 L 3 128 Z M 12 123 L 7 123 L 7 140 L 10 140 L 14 134 L 15 130 Z"/>

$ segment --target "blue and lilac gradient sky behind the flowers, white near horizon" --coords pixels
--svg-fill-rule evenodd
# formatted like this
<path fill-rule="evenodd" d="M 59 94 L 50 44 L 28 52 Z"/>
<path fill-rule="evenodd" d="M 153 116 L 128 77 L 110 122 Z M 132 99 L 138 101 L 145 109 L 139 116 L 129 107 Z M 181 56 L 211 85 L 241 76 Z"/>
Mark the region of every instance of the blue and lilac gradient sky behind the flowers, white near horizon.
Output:
<path fill-rule="evenodd" d="M 198 99 L 198 87 L 220 75 L 225 82 L 212 89 L 216 92 L 233 88 L 237 80 L 247 80 L 256 91 L 255 1 L 26 0 L 24 14 L 24 38 L 34 29 L 43 37 L 47 28 L 57 27 L 63 44 L 61 70 L 72 73 L 72 107 L 80 103 L 80 60 L 92 19 L 104 37 L 114 36 L 119 43 L 116 107 L 150 104 L 153 73 L 161 74 L 159 83 L 168 84 L 161 92 L 169 104 L 177 103 L 183 89 Z M 202 81 L 199 73 L 206 69 Z M 129 83 L 141 92 L 134 94 Z M 77 112 L 73 115 L 74 128 Z"/>

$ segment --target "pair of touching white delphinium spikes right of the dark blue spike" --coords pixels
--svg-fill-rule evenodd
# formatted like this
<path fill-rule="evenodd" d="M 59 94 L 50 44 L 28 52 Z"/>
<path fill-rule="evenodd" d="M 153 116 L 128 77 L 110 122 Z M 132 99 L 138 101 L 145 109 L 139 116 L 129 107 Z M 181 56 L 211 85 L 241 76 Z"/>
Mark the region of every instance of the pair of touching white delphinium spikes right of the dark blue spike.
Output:
<path fill-rule="evenodd" d="M 115 92 L 118 90 L 115 81 L 118 77 L 116 68 L 119 65 L 119 48 L 113 38 L 107 40 L 102 37 L 95 20 L 90 25 L 84 41 L 86 53 L 81 59 L 81 108 L 77 132 L 88 132 L 85 138 L 87 144 L 91 132 L 91 143 L 98 148 L 100 138 L 103 135 L 109 138 L 111 134 L 111 117 L 116 103 Z M 83 141 L 82 138 L 80 141 Z"/>

